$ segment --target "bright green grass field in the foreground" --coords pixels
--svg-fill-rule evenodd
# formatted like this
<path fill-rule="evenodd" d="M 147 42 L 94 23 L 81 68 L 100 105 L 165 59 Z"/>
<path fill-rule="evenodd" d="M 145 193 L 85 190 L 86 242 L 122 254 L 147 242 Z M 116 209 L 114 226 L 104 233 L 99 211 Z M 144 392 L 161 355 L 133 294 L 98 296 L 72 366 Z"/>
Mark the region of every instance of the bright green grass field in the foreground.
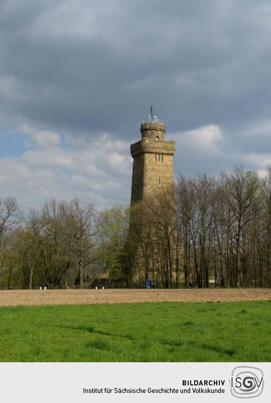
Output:
<path fill-rule="evenodd" d="M 0 308 L 1 361 L 271 361 L 271 302 Z"/>

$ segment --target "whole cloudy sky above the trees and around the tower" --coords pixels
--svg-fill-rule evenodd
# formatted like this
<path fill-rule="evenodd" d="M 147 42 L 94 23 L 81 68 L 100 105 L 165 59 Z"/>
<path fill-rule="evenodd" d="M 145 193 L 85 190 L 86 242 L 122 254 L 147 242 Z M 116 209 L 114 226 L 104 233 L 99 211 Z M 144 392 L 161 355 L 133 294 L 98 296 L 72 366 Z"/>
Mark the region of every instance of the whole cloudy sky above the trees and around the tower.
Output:
<path fill-rule="evenodd" d="M 2 0 L 0 197 L 128 204 L 150 106 L 175 173 L 271 162 L 269 0 Z"/>

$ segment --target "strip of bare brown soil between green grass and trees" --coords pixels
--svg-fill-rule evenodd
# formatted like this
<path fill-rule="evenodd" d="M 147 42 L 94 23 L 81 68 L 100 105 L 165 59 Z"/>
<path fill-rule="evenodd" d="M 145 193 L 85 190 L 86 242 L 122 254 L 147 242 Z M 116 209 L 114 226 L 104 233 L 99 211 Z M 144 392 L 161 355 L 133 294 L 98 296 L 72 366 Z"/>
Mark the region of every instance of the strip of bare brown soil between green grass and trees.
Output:
<path fill-rule="evenodd" d="M 229 302 L 271 300 L 271 289 L 105 289 L 0 291 L 0 306 L 131 302 Z"/>

